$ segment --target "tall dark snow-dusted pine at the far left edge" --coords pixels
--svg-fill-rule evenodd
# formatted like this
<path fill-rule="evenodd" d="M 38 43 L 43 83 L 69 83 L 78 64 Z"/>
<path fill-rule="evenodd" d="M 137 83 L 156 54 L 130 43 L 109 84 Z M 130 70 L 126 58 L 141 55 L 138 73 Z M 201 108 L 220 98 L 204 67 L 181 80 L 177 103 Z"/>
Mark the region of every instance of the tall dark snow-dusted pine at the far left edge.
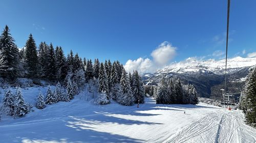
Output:
<path fill-rule="evenodd" d="M 14 80 L 19 76 L 19 51 L 6 25 L 0 36 L 0 76 Z"/>

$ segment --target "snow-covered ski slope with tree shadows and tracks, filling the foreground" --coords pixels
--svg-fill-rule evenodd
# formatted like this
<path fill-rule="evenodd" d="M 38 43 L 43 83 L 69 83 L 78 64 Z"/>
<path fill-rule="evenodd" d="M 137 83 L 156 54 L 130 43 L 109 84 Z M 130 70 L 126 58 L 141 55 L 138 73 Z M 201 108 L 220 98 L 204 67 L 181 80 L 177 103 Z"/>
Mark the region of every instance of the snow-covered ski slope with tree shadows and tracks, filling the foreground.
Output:
<path fill-rule="evenodd" d="M 23 89 L 31 104 L 35 91 Z M 204 103 L 163 105 L 152 98 L 139 108 L 114 101 L 95 105 L 82 97 L 33 107 L 24 118 L 3 117 L 0 142 L 256 142 L 256 130 L 244 124 L 240 110 Z"/>

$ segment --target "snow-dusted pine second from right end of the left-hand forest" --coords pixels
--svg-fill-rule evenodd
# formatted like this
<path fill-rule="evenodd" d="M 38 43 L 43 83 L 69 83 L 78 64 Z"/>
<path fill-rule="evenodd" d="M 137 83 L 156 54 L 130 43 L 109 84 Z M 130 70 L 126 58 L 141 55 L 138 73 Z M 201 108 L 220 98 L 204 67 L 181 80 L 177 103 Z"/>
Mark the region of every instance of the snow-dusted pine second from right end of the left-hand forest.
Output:
<path fill-rule="evenodd" d="M 131 90 L 130 81 L 124 69 L 122 71 L 120 85 L 121 85 L 122 94 L 119 96 L 118 102 L 125 106 L 133 105 L 134 98 Z"/>

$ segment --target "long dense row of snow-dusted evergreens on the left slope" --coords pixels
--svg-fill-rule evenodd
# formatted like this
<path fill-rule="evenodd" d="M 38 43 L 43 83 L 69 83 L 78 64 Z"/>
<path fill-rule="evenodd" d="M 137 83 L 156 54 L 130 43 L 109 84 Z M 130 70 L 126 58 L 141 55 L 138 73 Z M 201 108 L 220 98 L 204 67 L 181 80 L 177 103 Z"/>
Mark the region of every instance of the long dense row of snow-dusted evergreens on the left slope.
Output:
<path fill-rule="evenodd" d="M 91 59 L 82 59 L 72 50 L 66 57 L 61 46 L 54 48 L 52 43 L 41 42 L 37 48 L 32 34 L 20 50 L 14 42 L 6 25 L 0 36 L 0 77 L 9 82 L 25 77 L 57 83 L 55 90 L 48 88 L 46 98 L 39 93 L 36 104 L 39 109 L 45 104 L 72 100 L 90 81 L 97 83 L 97 104 L 108 104 L 111 99 L 122 105 L 144 102 L 144 87 L 138 71 L 128 74 L 119 61 L 103 63 L 95 59 L 93 64 Z"/>

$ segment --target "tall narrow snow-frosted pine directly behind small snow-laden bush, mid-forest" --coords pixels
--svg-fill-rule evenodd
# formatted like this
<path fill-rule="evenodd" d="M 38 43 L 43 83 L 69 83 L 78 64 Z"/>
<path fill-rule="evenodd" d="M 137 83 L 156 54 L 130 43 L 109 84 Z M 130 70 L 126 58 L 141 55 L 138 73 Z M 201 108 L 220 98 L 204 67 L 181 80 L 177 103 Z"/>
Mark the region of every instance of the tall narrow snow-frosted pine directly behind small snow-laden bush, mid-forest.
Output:
<path fill-rule="evenodd" d="M 100 64 L 98 79 L 98 92 L 105 93 L 107 95 L 107 99 L 109 100 L 108 77 L 106 76 L 103 63 Z"/>

